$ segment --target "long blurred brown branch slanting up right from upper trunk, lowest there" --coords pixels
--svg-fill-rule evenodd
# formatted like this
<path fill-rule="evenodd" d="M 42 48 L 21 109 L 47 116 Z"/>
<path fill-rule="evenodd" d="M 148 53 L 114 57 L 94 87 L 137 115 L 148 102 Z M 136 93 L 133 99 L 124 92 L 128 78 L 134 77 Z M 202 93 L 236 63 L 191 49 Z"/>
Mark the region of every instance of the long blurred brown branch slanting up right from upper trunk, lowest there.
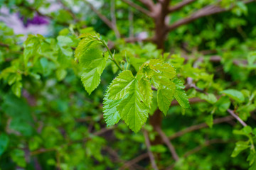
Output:
<path fill-rule="evenodd" d="M 253 2 L 255 0 L 247 0 L 244 1 L 245 4 L 248 4 L 250 2 Z M 235 6 L 231 6 L 230 8 L 221 8 L 220 6 L 210 5 L 206 6 L 204 8 L 201 8 L 200 10 L 196 11 L 195 13 L 192 13 L 191 16 L 188 16 L 187 18 L 183 18 L 180 21 L 177 21 L 176 23 L 173 23 L 171 26 L 168 27 L 167 31 L 174 30 L 178 28 L 179 26 L 183 26 L 187 23 L 191 23 L 192 21 L 195 21 L 198 18 L 202 18 L 204 16 L 210 16 L 216 13 L 221 13 L 225 11 L 230 11 Z"/>

